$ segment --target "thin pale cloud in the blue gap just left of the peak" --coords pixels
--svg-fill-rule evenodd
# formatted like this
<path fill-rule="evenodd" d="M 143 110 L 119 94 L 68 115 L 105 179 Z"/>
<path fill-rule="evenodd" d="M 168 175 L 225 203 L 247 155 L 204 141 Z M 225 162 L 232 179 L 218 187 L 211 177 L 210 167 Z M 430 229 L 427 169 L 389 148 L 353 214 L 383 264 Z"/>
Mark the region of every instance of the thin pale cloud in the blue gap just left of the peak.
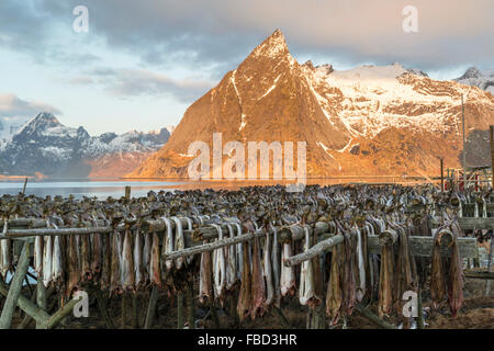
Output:
<path fill-rule="evenodd" d="M 186 103 L 200 98 L 214 86 L 212 81 L 173 79 L 149 70 L 112 68 L 93 69 L 88 76 L 71 79 L 69 83 L 99 84 L 122 98 L 170 95 Z"/>

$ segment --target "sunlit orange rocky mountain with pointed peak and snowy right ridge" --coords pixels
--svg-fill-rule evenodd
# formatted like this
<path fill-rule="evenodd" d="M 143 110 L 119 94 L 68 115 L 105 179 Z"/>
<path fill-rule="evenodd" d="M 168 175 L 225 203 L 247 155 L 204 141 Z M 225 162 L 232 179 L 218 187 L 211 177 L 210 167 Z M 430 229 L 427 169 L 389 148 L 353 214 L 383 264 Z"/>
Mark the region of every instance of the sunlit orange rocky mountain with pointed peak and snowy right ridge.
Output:
<path fill-rule="evenodd" d="M 301 65 L 276 31 L 186 112 L 169 141 L 128 177 L 188 177 L 193 141 L 306 141 L 307 174 L 437 176 L 459 166 L 465 131 L 494 123 L 494 98 L 400 64 L 335 71 Z M 246 148 L 247 149 L 247 148 Z M 224 157 L 226 158 L 226 157 Z"/>

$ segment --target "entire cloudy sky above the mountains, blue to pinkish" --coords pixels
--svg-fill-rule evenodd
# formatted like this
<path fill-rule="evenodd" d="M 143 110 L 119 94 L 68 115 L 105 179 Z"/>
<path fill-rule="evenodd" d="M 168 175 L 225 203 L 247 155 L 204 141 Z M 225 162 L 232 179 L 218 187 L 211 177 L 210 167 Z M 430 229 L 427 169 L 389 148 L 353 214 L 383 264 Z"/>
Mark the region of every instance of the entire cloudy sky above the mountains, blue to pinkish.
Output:
<path fill-rule="evenodd" d="M 406 5 L 418 33 L 403 31 Z M 492 0 L 0 0 L 0 117 L 52 111 L 90 134 L 177 124 L 276 29 L 302 63 L 452 79 L 494 68 L 493 19 Z"/>

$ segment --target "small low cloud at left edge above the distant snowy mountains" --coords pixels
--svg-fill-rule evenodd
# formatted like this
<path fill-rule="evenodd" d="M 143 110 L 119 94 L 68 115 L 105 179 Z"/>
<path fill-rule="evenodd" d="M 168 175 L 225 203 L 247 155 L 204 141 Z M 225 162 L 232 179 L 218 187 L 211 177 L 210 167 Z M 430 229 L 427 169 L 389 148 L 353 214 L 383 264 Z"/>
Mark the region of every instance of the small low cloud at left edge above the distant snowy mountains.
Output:
<path fill-rule="evenodd" d="M 26 117 L 40 112 L 61 114 L 60 110 L 49 104 L 22 100 L 14 94 L 0 93 L 0 117 Z"/>

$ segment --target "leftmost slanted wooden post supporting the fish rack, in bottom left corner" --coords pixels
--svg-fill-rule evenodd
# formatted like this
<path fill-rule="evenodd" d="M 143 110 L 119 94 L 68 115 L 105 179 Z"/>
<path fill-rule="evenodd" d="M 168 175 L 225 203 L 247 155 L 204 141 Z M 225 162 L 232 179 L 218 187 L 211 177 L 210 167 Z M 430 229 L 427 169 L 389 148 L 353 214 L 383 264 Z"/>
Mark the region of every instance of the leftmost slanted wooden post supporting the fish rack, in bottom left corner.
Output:
<path fill-rule="evenodd" d="M 13 312 L 18 305 L 22 282 L 24 281 L 24 276 L 25 273 L 27 273 L 29 268 L 27 246 L 29 244 L 24 242 L 22 247 L 21 257 L 19 258 L 19 263 L 10 284 L 9 294 L 7 295 L 5 303 L 3 304 L 2 315 L 0 317 L 0 329 L 9 329 L 12 324 Z"/>

